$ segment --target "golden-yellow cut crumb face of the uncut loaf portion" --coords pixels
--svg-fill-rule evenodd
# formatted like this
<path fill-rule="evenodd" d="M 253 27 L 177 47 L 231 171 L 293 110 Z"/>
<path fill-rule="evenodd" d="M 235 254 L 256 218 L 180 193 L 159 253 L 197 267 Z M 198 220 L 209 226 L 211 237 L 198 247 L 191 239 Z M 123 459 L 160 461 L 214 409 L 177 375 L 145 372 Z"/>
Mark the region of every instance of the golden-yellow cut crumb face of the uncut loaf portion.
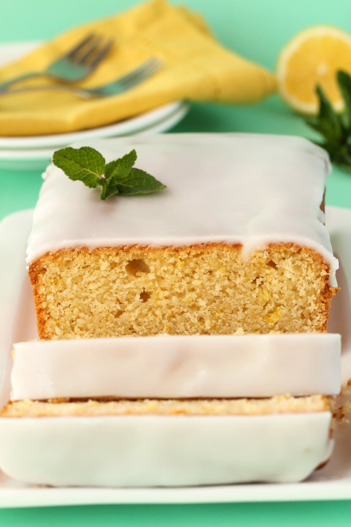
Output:
<path fill-rule="evenodd" d="M 39 337 L 326 331 L 336 289 L 312 249 L 61 249 L 29 265 Z"/>

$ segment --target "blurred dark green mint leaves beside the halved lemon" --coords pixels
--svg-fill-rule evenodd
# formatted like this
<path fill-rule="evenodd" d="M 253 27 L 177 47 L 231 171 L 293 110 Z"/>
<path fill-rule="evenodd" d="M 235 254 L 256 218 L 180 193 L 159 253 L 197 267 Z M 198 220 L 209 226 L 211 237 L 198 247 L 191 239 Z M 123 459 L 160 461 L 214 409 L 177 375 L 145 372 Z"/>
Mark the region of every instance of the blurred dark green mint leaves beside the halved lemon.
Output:
<path fill-rule="evenodd" d="M 351 77 L 339 71 L 336 79 L 345 102 L 344 111 L 337 113 L 322 87 L 317 86 L 319 113 L 315 117 L 307 117 L 306 123 L 324 136 L 325 141 L 316 144 L 329 153 L 330 159 L 351 171 Z"/>

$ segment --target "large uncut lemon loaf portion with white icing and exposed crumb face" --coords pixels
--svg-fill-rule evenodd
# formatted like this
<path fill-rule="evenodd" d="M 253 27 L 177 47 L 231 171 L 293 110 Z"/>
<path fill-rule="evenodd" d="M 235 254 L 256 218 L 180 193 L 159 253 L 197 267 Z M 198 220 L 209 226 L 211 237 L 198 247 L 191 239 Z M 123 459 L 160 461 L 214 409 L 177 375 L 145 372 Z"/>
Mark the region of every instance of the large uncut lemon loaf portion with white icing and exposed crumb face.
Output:
<path fill-rule="evenodd" d="M 167 188 L 102 201 L 49 165 L 27 250 L 40 338 L 326 331 L 324 150 L 259 134 L 84 144 L 106 161 L 135 148 Z"/>

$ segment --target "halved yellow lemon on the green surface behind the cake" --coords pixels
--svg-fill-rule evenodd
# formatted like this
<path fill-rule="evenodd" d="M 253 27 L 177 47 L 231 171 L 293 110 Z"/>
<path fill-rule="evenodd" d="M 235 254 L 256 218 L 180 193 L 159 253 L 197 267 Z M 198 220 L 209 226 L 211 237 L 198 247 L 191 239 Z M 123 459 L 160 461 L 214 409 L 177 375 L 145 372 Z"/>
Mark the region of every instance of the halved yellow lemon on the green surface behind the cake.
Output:
<path fill-rule="evenodd" d="M 351 73 L 351 35 L 334 26 L 309 27 L 295 35 L 278 56 L 279 93 L 294 110 L 316 114 L 316 85 L 320 84 L 335 110 L 341 111 L 344 101 L 336 82 L 338 70 Z"/>

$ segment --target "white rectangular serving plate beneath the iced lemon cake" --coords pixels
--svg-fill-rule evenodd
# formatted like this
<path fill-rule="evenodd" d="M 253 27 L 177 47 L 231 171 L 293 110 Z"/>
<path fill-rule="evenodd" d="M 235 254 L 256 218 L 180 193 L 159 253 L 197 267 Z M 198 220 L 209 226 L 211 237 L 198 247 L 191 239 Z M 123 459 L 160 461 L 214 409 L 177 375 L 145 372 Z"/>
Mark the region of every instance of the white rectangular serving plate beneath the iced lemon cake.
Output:
<path fill-rule="evenodd" d="M 0 404 L 10 392 L 11 359 L 15 341 L 37 338 L 31 288 L 25 270 L 25 249 L 32 225 L 32 210 L 21 211 L 0 225 Z M 342 288 L 333 300 L 329 331 L 343 338 L 342 376 L 351 377 L 351 210 L 327 207 L 327 226 L 336 256 Z M 2 374 L 3 372 L 3 374 Z M 209 503 L 351 498 L 351 425 L 335 435 L 332 460 L 303 483 L 237 484 L 168 488 L 45 487 L 26 485 L 0 475 L 0 507 L 98 503 Z"/>

